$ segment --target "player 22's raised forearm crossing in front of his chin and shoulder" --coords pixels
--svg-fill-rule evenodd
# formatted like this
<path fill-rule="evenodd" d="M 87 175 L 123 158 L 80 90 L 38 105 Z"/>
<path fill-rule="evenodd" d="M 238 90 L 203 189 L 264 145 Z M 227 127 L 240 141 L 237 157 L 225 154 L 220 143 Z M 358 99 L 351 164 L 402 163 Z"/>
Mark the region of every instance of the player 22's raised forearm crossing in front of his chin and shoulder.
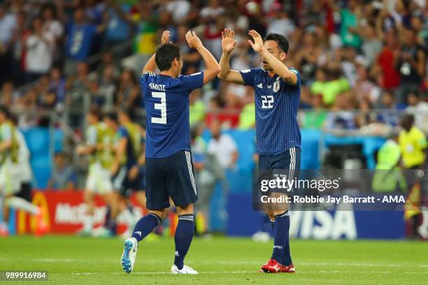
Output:
<path fill-rule="evenodd" d="M 283 78 L 283 80 L 289 85 L 295 85 L 297 83 L 296 73 L 290 71 L 290 69 L 287 68 L 285 64 L 283 64 L 279 59 L 271 54 L 271 50 L 267 50 L 263 46 L 262 36 L 260 36 L 260 34 L 255 30 L 248 31 L 248 34 L 254 40 L 254 43 L 251 40 L 248 40 L 248 43 L 250 43 L 252 49 L 255 52 L 259 53 L 264 58 L 264 60 L 268 62 L 268 64 L 272 67 L 273 72 L 278 74 L 280 78 Z"/>

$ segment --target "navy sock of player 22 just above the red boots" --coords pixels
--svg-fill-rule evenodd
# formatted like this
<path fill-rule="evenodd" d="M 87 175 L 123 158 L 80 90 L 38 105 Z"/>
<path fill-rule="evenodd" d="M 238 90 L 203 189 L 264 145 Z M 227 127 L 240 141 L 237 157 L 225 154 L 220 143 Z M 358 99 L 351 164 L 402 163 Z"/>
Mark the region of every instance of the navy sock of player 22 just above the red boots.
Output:
<path fill-rule="evenodd" d="M 273 252 L 272 259 L 283 263 L 285 256 L 285 247 L 290 231 L 290 216 L 288 211 L 275 215 L 275 224 L 273 225 Z M 290 249 L 289 249 L 290 252 Z"/>

